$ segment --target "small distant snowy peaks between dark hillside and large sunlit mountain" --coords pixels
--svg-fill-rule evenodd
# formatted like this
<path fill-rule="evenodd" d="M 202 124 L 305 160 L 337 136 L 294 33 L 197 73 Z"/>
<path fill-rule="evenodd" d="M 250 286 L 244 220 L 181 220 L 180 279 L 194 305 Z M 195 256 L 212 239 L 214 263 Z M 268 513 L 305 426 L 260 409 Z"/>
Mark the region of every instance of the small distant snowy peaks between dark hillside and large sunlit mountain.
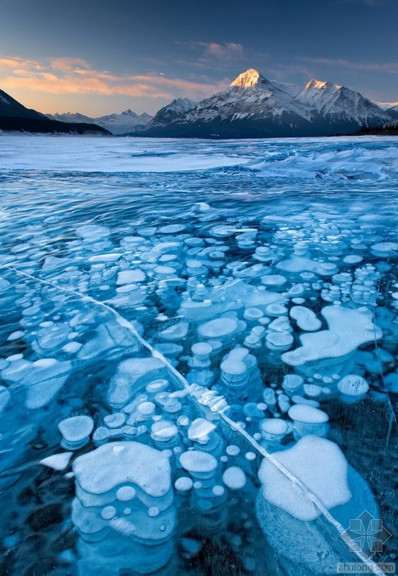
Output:
<path fill-rule="evenodd" d="M 78 112 L 66 112 L 64 114 L 48 114 L 48 118 L 53 120 L 60 120 L 63 122 L 85 122 L 87 124 L 97 124 L 102 128 L 109 130 L 112 134 L 118 136 L 119 134 L 126 134 L 127 132 L 136 132 L 143 130 L 151 121 L 152 116 L 149 114 L 136 114 L 131 110 L 125 110 L 122 114 L 109 114 L 108 116 L 99 116 L 99 118 L 91 118 Z"/>

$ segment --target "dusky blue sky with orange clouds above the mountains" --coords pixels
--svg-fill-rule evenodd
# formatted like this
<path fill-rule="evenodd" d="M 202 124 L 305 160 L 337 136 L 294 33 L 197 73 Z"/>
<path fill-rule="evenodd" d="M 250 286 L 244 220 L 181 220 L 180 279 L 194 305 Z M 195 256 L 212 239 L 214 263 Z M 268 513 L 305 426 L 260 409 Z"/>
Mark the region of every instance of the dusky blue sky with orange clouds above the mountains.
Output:
<path fill-rule="evenodd" d="M 39 112 L 154 114 L 256 68 L 398 102 L 398 0 L 0 0 L 0 89 Z"/>

